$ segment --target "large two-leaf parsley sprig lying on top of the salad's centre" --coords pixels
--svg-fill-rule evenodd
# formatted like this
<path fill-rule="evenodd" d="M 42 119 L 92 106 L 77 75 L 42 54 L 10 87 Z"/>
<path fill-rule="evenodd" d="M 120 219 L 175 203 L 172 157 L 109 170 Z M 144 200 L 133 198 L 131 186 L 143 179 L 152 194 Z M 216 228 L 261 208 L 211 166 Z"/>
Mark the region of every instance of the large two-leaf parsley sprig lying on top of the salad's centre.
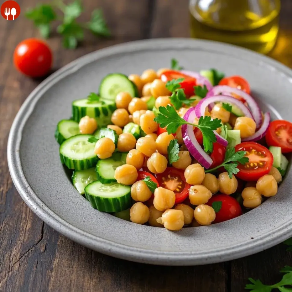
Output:
<path fill-rule="evenodd" d="M 210 116 L 201 116 L 198 125 L 192 124 L 181 118 L 175 111 L 175 108 L 167 105 L 166 107 L 159 107 L 159 114 L 154 118 L 161 128 L 167 127 L 167 133 L 175 133 L 179 126 L 191 125 L 199 128 L 203 135 L 203 145 L 205 152 L 213 151 L 213 142 L 216 142 L 216 136 L 213 133 L 221 126 L 221 120 L 213 119 Z"/>

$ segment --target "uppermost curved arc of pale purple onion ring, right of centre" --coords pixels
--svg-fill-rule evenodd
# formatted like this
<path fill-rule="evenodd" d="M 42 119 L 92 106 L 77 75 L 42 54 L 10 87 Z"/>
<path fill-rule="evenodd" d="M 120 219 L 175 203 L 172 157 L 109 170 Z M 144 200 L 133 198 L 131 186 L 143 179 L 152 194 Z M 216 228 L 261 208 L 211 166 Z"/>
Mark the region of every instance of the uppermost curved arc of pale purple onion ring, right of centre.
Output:
<path fill-rule="evenodd" d="M 223 94 L 235 93 L 237 95 L 240 95 L 242 98 L 244 98 L 248 104 L 249 109 L 251 110 L 253 119 L 256 122 L 256 127 L 259 128 L 261 126 L 262 121 L 263 121 L 262 112 L 260 110 L 260 107 L 256 103 L 256 101 L 248 93 L 240 89 L 227 86 L 227 85 L 218 85 L 218 86 L 214 86 L 213 89 L 207 93 L 206 97 L 219 95 L 220 93 L 223 93 Z"/>

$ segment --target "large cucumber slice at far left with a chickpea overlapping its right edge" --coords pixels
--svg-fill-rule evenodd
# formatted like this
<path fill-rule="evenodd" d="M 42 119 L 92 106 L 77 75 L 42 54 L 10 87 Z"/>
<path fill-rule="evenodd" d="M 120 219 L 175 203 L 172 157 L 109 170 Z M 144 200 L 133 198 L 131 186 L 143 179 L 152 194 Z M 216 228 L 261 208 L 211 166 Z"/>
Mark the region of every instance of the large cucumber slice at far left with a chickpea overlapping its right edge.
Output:
<path fill-rule="evenodd" d="M 76 135 L 60 146 L 60 159 L 69 169 L 83 170 L 94 167 L 98 157 L 94 153 L 95 143 L 88 142 L 93 135 Z"/>

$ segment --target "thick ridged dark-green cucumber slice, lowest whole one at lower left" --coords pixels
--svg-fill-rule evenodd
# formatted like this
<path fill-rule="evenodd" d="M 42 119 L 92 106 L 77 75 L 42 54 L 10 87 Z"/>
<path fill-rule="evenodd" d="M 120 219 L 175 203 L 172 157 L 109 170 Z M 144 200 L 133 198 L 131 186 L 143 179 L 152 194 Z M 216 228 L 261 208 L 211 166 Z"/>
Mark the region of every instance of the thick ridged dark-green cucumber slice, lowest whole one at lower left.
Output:
<path fill-rule="evenodd" d="M 98 211 L 120 212 L 131 206 L 131 187 L 119 183 L 103 184 L 96 181 L 85 187 L 85 197 Z"/>

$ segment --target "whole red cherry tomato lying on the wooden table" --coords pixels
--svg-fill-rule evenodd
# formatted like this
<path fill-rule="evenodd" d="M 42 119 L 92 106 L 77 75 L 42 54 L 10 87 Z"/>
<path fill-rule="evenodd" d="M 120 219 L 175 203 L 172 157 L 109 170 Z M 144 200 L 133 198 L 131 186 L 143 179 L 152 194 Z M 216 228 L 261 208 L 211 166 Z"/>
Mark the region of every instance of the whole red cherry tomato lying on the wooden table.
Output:
<path fill-rule="evenodd" d="M 39 39 L 25 39 L 14 50 L 15 67 L 30 77 L 46 75 L 52 66 L 52 52 L 49 46 Z"/>

